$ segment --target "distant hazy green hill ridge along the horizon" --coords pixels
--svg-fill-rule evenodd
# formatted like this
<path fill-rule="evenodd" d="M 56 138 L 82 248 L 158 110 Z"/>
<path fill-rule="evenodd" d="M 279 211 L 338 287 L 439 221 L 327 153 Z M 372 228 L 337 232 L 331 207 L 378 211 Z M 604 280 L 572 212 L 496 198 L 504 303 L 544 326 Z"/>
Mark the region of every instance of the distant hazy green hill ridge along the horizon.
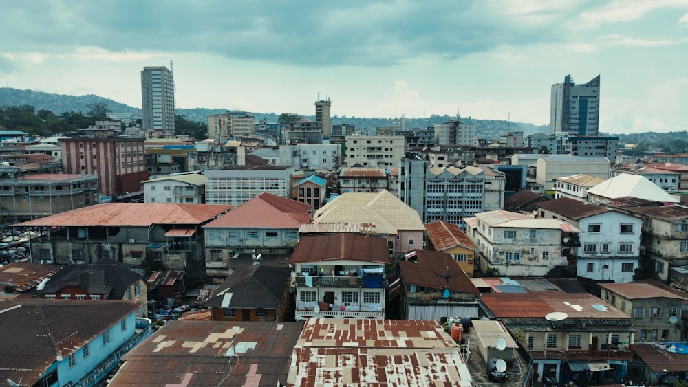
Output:
<path fill-rule="evenodd" d="M 34 107 L 35 111 L 50 110 L 56 115 L 65 112 L 82 112 L 89 111 L 88 105 L 94 103 L 105 104 L 107 109 L 114 113 L 141 113 L 141 109 L 137 107 L 130 107 L 127 104 L 116 102 L 109 98 L 88 94 L 85 96 L 69 96 L 65 94 L 51 94 L 43 93 L 41 91 L 14 89 L 12 87 L 0 87 L 0 106 L 22 106 L 30 105 Z M 193 122 L 207 122 L 208 115 L 221 114 L 228 109 L 177 109 L 178 115 L 184 115 L 186 120 Z M 315 111 L 315 107 L 313 107 Z M 281 112 L 286 113 L 286 112 Z M 267 122 L 277 122 L 279 113 L 253 113 L 256 120 L 265 119 Z M 314 115 L 305 116 L 314 120 Z M 413 128 L 427 128 L 432 124 L 441 124 L 453 120 L 455 117 L 450 115 L 431 115 L 427 118 L 407 118 L 407 129 Z M 508 122 L 506 120 L 477 120 L 471 117 L 462 117 L 462 122 L 475 124 L 475 133 L 481 137 L 489 139 L 498 138 L 500 133 L 507 131 L 522 131 L 524 135 L 530 135 L 538 132 L 548 132 L 549 128 L 546 125 L 537 126 L 533 124 L 524 124 L 522 122 Z M 346 117 L 334 115 L 332 117 L 332 124 L 352 124 L 359 129 L 374 130 L 380 126 L 391 126 L 391 118 L 365 118 L 365 117 Z"/>

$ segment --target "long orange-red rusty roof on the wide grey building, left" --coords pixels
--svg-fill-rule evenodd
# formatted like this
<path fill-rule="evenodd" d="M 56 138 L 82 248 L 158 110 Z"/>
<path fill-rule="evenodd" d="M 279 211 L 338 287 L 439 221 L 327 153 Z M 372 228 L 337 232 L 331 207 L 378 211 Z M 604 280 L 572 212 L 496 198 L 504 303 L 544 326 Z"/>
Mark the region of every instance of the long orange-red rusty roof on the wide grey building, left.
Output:
<path fill-rule="evenodd" d="M 50 215 L 23 227 L 147 227 L 153 224 L 199 224 L 230 210 L 222 204 L 105 203 Z"/>

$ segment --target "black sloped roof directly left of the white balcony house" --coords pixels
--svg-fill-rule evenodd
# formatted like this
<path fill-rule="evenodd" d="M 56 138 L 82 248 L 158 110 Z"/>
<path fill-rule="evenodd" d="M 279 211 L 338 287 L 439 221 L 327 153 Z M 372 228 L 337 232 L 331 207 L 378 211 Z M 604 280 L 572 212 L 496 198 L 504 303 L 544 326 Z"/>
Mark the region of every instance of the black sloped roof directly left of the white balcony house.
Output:
<path fill-rule="evenodd" d="M 213 291 L 209 307 L 277 309 L 288 285 L 288 267 L 256 265 L 239 267 Z M 225 294 L 231 294 L 224 305 Z"/>

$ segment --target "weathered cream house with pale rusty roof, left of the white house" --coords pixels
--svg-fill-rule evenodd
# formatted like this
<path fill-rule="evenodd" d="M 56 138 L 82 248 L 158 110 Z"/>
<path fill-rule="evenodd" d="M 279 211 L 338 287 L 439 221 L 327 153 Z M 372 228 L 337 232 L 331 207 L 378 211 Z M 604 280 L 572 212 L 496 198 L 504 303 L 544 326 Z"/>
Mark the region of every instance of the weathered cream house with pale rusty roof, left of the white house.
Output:
<path fill-rule="evenodd" d="M 466 234 L 480 250 L 477 266 L 499 276 L 545 276 L 556 266 L 568 265 L 562 244 L 581 232 L 559 219 L 533 219 L 504 210 L 481 212 L 464 221 Z"/>

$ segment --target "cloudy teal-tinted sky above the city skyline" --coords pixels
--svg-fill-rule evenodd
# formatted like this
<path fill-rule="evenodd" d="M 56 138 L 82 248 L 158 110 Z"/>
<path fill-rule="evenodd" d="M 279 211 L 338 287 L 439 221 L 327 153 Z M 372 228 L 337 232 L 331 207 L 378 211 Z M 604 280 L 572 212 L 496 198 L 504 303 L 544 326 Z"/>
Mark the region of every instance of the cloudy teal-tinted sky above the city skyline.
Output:
<path fill-rule="evenodd" d="M 688 126 L 688 0 L 33 0 L 0 21 L 1 87 L 141 107 L 140 70 L 173 61 L 183 108 L 548 124 L 552 84 L 600 74 L 601 131 Z"/>

